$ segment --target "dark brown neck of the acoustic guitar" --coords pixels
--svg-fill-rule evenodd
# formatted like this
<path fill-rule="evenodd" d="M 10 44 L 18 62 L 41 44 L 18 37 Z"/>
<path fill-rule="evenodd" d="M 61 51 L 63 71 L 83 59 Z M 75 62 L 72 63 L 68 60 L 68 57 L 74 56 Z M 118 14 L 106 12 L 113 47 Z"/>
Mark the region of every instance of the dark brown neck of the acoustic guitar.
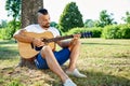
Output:
<path fill-rule="evenodd" d="M 73 38 L 73 34 L 72 35 L 66 35 L 66 37 L 57 37 L 57 38 L 52 38 L 52 39 L 43 39 L 43 42 L 56 42 L 56 41 L 61 41 L 61 40 L 65 40 L 65 39 L 70 39 Z"/>

